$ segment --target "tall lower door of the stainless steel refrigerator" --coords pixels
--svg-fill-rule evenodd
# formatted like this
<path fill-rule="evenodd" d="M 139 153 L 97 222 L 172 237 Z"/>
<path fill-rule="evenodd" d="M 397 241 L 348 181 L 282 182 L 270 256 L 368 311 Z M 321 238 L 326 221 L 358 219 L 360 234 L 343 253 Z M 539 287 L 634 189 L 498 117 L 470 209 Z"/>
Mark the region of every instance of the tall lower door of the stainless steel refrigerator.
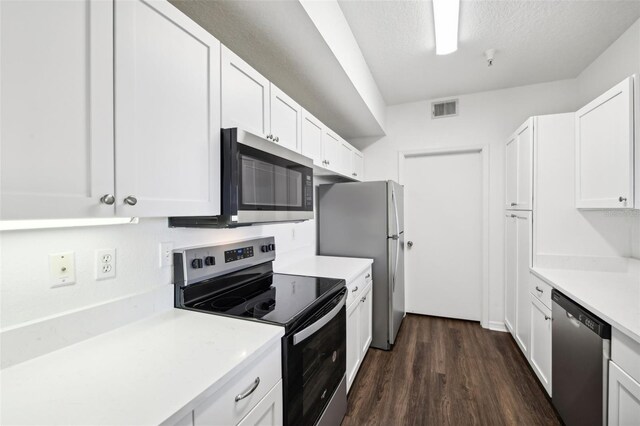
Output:
<path fill-rule="evenodd" d="M 389 343 L 394 344 L 405 316 L 404 232 L 389 238 Z"/>

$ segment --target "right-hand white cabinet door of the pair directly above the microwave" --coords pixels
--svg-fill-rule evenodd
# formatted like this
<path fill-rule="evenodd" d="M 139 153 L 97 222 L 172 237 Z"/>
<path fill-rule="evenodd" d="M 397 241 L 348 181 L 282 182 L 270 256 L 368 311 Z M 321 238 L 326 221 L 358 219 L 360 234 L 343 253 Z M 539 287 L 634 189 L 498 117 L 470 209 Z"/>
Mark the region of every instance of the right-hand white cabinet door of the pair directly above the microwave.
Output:
<path fill-rule="evenodd" d="M 300 152 L 302 107 L 271 84 L 271 134 L 273 141 Z"/>

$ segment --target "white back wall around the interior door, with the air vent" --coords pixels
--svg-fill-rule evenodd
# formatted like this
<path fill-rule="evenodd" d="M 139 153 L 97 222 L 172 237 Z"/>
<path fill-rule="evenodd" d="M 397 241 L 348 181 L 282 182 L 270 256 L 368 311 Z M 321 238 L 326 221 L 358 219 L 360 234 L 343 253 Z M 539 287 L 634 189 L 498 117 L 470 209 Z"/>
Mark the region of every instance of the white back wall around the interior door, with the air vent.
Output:
<path fill-rule="evenodd" d="M 425 147 L 490 146 L 489 282 L 491 322 L 503 321 L 504 143 L 532 115 L 575 110 L 575 80 L 459 96 L 459 115 L 431 119 L 431 101 L 389 107 L 387 136 L 363 149 L 367 180 L 398 180 L 398 152 Z M 360 142 L 360 143 L 359 143 Z M 434 206 L 437 208 L 437 206 Z M 411 239 L 408 235 L 407 239 Z M 462 265 L 461 265 L 462 266 Z"/>

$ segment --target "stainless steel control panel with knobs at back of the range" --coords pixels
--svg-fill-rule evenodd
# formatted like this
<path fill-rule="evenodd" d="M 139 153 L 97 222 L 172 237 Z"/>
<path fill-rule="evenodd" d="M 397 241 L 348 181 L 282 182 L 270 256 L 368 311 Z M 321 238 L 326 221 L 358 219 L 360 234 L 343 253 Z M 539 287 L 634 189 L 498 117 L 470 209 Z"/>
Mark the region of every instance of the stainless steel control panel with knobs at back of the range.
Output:
<path fill-rule="evenodd" d="M 274 237 L 173 251 L 173 282 L 185 286 L 276 258 Z"/>

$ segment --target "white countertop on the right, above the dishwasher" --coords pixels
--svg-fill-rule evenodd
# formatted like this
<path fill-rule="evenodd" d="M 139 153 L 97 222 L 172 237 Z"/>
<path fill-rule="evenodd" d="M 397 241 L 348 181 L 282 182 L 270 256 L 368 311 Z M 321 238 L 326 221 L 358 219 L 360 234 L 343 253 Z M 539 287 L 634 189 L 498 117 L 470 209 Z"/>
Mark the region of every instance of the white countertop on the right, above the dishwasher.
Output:
<path fill-rule="evenodd" d="M 532 268 L 552 287 L 640 343 L 640 262 L 619 272 Z"/>

